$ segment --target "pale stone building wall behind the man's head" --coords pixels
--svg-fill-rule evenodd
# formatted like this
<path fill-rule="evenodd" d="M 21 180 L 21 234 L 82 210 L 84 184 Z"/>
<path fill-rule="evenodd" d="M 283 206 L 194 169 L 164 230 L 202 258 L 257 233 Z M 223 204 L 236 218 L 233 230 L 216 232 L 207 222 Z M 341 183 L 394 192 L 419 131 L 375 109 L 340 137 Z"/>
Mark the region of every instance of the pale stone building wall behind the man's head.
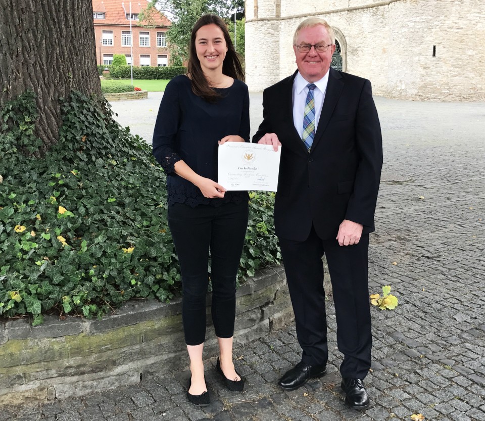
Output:
<path fill-rule="evenodd" d="M 302 20 L 316 16 L 342 34 L 337 40 L 347 48 L 344 71 L 370 79 L 376 95 L 485 100 L 481 0 L 442 0 L 439 6 L 427 0 L 247 0 L 246 14 L 250 90 L 262 90 L 296 70 L 293 33 Z"/>

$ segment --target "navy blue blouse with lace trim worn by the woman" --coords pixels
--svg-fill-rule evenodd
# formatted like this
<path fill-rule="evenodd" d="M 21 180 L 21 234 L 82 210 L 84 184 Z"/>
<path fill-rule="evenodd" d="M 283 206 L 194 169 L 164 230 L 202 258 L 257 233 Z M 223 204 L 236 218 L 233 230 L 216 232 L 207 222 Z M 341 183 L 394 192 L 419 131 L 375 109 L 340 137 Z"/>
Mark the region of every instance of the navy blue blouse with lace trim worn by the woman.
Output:
<path fill-rule="evenodd" d="M 166 86 L 153 133 L 153 154 L 167 173 L 168 203 L 219 206 L 248 199 L 246 191 L 226 192 L 223 199 L 205 198 L 174 165 L 183 160 L 202 177 L 217 181 L 218 142 L 237 134 L 249 142 L 248 86 L 234 79 L 228 88 L 216 88 L 222 98 L 209 103 L 192 92 L 190 79 L 174 77 Z"/>

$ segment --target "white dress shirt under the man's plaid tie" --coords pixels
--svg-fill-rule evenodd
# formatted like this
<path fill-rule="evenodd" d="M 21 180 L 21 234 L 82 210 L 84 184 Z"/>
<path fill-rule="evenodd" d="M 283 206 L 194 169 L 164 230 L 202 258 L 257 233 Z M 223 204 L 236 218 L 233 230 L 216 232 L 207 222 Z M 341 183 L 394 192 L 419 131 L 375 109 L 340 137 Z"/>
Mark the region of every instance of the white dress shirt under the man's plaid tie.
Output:
<path fill-rule="evenodd" d="M 318 121 L 322 113 L 323 101 L 327 90 L 328 73 L 325 73 L 320 80 L 313 82 L 316 88 L 313 90 L 315 99 L 315 132 L 317 131 Z M 305 101 L 307 99 L 308 87 L 310 82 L 305 80 L 300 72 L 297 73 L 293 81 L 293 122 L 298 134 L 303 141 L 303 114 L 305 113 Z"/>

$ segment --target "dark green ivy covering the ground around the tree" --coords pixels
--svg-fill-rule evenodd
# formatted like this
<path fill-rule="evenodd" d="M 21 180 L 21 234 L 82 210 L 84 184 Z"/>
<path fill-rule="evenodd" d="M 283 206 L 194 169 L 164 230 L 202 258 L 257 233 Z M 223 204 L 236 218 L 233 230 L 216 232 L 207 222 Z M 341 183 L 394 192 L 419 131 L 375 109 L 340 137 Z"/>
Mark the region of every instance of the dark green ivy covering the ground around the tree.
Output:
<path fill-rule="evenodd" d="M 0 112 L 0 315 L 101 316 L 130 298 L 180 289 L 165 174 L 109 104 L 63 102 L 59 142 L 43 157 L 33 93 Z M 0 180 L 2 180 L 0 178 Z M 239 280 L 279 263 L 273 194 L 250 193 Z"/>

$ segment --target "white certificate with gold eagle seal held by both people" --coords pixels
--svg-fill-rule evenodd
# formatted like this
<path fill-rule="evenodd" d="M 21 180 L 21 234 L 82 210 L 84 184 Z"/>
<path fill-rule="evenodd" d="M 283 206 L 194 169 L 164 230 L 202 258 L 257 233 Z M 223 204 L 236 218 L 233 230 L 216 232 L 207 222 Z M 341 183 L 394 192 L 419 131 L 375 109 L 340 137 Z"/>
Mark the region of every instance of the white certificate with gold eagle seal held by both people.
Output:
<path fill-rule="evenodd" d="M 281 146 L 226 142 L 219 145 L 218 183 L 227 190 L 266 190 L 278 188 Z"/>

